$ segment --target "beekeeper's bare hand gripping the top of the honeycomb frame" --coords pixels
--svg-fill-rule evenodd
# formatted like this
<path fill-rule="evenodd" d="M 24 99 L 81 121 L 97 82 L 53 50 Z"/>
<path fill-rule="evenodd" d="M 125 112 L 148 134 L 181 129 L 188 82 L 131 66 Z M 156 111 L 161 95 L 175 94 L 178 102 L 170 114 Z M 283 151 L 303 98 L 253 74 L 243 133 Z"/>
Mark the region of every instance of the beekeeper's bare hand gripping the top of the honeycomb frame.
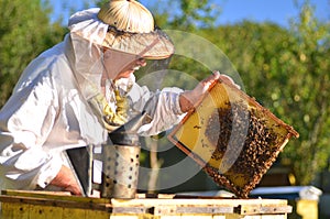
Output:
<path fill-rule="evenodd" d="M 210 86 L 220 78 L 240 89 L 240 86 L 238 86 L 231 77 L 227 75 L 220 75 L 219 72 L 213 72 L 212 75 L 201 80 L 193 90 L 187 90 L 180 94 L 179 103 L 182 111 L 188 112 L 190 109 L 193 109 L 201 99 L 201 96 L 209 90 Z"/>

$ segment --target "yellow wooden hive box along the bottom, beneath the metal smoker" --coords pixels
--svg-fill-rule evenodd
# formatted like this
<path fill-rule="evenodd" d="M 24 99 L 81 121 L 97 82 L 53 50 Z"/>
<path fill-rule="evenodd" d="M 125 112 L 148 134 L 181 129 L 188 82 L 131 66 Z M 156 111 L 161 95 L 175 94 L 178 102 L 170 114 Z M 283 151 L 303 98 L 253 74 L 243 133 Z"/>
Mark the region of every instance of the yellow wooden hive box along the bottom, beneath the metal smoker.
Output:
<path fill-rule="evenodd" d="M 6 191 L 0 196 L 2 218 L 9 219 L 112 219 L 164 217 L 208 217 L 238 219 L 266 217 L 286 218 L 292 207 L 284 199 L 230 199 L 211 197 L 175 197 L 172 195 L 140 197 L 135 199 L 107 199 L 74 197 L 66 194 Z M 29 196 L 30 195 L 30 196 Z M 162 198 L 160 198 L 162 197 Z M 262 216 L 262 217 L 261 217 Z M 267 218 L 267 219 L 268 219 Z M 272 218 L 273 219 L 273 218 Z"/>

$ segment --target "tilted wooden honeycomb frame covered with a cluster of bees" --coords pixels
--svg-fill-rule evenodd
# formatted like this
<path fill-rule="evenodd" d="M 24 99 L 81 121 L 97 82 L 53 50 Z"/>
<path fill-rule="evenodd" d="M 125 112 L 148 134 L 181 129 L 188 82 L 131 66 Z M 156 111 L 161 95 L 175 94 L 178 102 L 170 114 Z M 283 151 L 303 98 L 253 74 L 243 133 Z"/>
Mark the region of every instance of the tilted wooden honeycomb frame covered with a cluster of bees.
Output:
<path fill-rule="evenodd" d="M 250 191 L 298 133 L 254 98 L 219 80 L 168 139 L 220 186 L 240 198 Z"/>

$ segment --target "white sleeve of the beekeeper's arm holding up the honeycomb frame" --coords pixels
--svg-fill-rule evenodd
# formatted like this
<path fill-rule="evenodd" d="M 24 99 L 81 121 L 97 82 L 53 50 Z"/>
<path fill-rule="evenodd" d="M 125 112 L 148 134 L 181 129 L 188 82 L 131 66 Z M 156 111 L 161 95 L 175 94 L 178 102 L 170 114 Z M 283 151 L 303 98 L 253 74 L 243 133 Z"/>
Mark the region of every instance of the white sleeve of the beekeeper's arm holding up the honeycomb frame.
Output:
<path fill-rule="evenodd" d="M 140 135 L 154 135 L 170 129 L 177 124 L 185 116 L 179 106 L 179 94 L 182 89 L 164 88 L 161 91 L 151 92 L 145 86 L 134 85 L 129 96 L 136 111 L 145 110 L 152 121 L 142 125 Z"/>

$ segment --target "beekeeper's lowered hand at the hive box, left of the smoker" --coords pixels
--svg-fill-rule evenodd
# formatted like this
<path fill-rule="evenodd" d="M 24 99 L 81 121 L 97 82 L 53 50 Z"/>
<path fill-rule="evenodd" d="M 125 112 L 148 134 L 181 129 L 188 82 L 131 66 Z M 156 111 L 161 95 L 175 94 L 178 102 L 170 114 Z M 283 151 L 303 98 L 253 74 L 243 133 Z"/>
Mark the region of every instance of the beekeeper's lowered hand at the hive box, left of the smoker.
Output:
<path fill-rule="evenodd" d="M 73 171 L 66 166 L 62 166 L 58 174 L 51 182 L 51 185 L 63 188 L 63 190 L 70 191 L 73 195 L 81 196 L 80 188 L 76 182 Z"/>

